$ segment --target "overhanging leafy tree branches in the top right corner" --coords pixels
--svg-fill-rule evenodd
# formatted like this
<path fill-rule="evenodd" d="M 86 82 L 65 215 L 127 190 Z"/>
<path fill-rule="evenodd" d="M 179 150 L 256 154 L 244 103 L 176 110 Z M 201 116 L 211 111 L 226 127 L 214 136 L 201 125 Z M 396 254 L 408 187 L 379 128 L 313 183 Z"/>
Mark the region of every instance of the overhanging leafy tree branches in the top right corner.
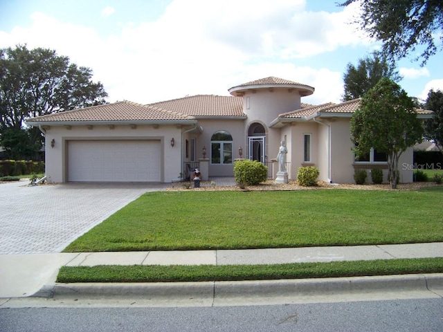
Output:
<path fill-rule="evenodd" d="M 355 1 L 347 0 L 340 6 Z M 443 28 L 442 0 L 359 1 L 361 16 L 357 23 L 370 37 L 383 42 L 383 53 L 390 59 L 404 58 L 408 53 L 415 53 L 417 46 L 424 46 L 415 59 L 422 58 L 424 65 L 437 50 L 443 49 L 443 35 L 440 33 L 440 43 L 435 40 L 439 36 L 438 30 Z"/>

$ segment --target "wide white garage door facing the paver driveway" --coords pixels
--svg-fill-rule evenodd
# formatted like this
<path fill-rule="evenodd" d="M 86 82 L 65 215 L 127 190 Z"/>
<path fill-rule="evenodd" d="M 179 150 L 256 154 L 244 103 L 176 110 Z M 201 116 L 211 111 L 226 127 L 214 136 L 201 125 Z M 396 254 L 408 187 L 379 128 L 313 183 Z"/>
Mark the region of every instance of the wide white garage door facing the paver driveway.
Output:
<path fill-rule="evenodd" d="M 71 140 L 68 181 L 160 182 L 159 140 Z"/>

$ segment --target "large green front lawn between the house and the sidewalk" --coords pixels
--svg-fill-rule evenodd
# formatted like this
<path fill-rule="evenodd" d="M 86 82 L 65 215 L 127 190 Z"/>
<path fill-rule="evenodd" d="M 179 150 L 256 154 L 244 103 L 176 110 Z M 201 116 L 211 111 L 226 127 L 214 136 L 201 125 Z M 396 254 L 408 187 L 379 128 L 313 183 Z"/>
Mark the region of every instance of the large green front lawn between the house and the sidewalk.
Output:
<path fill-rule="evenodd" d="M 443 241 L 443 187 L 417 191 L 150 192 L 65 252 Z"/>

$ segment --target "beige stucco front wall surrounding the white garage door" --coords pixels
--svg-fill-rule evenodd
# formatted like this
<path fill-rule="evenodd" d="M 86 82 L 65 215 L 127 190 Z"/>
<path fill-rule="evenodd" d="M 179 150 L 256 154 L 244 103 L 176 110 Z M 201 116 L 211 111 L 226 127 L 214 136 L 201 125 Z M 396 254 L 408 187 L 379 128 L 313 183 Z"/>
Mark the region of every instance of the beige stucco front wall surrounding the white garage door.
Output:
<path fill-rule="evenodd" d="M 171 147 L 170 141 L 174 138 L 175 145 Z M 51 147 L 51 140 L 55 146 Z M 161 181 L 168 183 L 176 180 L 181 172 L 180 147 L 181 128 L 176 126 L 159 126 L 155 129 L 152 125 L 137 125 L 132 129 L 129 125 L 115 126 L 87 126 L 66 127 L 51 126 L 46 129 L 46 176 L 50 183 L 61 183 L 67 180 L 67 149 L 69 140 L 145 140 L 155 139 L 161 141 Z M 85 160 L 87 162 L 87 160 Z"/>

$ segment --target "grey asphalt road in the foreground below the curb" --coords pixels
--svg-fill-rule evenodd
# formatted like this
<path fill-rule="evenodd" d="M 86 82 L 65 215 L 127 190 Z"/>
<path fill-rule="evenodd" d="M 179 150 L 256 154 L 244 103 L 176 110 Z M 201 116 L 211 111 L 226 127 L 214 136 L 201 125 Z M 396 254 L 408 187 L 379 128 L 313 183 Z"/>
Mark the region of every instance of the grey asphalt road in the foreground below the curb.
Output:
<path fill-rule="evenodd" d="M 443 331 L 443 299 L 184 308 L 1 308 L 0 331 Z"/>

